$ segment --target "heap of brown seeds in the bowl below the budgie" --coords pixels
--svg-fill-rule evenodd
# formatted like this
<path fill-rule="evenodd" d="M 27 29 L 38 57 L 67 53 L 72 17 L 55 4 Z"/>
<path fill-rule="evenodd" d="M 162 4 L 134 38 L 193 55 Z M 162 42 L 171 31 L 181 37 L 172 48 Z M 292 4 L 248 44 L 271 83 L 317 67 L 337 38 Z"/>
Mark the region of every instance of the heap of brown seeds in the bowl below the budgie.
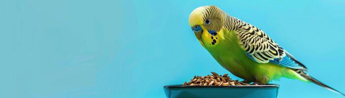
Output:
<path fill-rule="evenodd" d="M 219 75 L 211 72 L 212 75 L 194 76 L 189 82 L 184 82 L 183 86 L 234 86 L 234 85 L 249 85 L 247 83 L 239 82 L 239 80 L 232 80 L 228 74 Z"/>

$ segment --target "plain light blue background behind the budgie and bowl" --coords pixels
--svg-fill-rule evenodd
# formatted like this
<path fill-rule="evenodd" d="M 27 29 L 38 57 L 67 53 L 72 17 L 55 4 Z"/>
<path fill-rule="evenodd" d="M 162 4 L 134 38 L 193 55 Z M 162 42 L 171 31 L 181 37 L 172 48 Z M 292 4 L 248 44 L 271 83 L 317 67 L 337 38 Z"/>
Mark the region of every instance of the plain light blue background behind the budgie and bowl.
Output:
<path fill-rule="evenodd" d="M 0 98 L 165 98 L 164 85 L 229 73 L 188 25 L 193 9 L 211 4 L 345 92 L 345 0 L 0 0 Z M 273 83 L 279 98 L 342 98 L 312 83 Z"/>

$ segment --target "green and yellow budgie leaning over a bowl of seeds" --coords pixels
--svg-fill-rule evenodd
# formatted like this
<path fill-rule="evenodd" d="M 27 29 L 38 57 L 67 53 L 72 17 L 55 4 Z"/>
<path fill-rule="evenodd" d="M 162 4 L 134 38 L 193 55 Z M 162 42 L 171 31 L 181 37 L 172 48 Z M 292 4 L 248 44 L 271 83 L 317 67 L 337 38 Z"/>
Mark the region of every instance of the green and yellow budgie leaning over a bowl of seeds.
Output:
<path fill-rule="evenodd" d="M 194 9 L 188 21 L 197 40 L 213 58 L 245 82 L 265 85 L 286 77 L 312 82 L 345 96 L 311 77 L 304 64 L 263 30 L 228 15 L 215 5 Z"/>

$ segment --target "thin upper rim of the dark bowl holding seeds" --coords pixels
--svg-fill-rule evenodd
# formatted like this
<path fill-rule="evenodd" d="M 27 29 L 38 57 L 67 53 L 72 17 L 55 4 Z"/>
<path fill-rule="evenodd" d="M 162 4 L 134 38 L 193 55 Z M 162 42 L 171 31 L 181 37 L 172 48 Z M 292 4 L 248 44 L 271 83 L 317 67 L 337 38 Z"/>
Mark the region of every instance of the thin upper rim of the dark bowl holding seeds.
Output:
<path fill-rule="evenodd" d="M 166 85 L 164 88 L 267 88 L 276 87 L 279 88 L 278 84 L 266 84 L 266 85 L 234 85 L 234 86 L 182 86 L 182 84 Z"/>

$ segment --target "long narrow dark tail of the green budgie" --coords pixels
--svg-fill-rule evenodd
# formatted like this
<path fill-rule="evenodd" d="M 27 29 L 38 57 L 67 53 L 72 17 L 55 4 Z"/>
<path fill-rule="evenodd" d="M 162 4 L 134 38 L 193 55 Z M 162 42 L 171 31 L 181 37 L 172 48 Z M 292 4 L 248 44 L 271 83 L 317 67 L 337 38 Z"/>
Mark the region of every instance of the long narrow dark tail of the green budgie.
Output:
<path fill-rule="evenodd" d="M 313 82 L 313 83 L 315 83 L 315 84 L 317 84 L 317 85 L 320 85 L 320 86 L 322 86 L 322 87 L 324 87 L 324 88 L 326 88 L 326 89 L 328 89 L 328 90 L 330 90 L 330 91 L 332 91 L 332 92 L 335 92 L 335 93 L 338 93 L 338 94 L 341 94 L 341 95 L 345 96 L 344 93 L 339 92 L 338 90 L 333 89 L 332 87 L 327 86 L 326 84 L 324 84 L 324 83 L 322 83 L 321 81 L 319 81 L 319 80 L 317 80 L 317 79 L 311 77 L 310 75 L 308 75 L 307 73 L 305 73 L 305 72 L 302 71 L 302 70 L 295 70 L 295 72 L 296 72 L 296 73 L 299 73 L 301 76 L 303 76 L 303 77 L 306 78 L 307 80 L 309 80 L 309 81 L 311 81 L 311 82 Z"/>

